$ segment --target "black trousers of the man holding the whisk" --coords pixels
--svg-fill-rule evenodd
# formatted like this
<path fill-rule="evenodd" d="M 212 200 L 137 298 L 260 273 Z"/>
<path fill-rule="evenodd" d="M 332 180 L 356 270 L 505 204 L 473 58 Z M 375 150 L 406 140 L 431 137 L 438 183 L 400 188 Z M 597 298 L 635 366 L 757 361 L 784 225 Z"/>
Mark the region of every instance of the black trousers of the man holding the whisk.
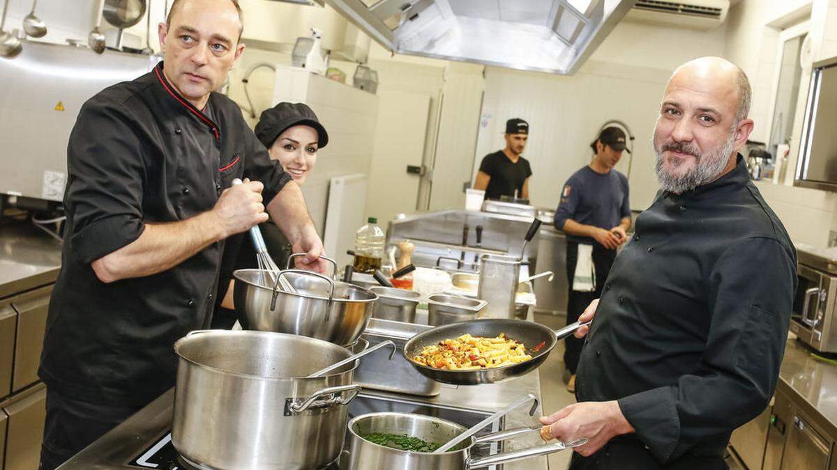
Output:
<path fill-rule="evenodd" d="M 53 470 L 139 411 L 142 406 L 89 403 L 47 391 L 40 470 Z"/>

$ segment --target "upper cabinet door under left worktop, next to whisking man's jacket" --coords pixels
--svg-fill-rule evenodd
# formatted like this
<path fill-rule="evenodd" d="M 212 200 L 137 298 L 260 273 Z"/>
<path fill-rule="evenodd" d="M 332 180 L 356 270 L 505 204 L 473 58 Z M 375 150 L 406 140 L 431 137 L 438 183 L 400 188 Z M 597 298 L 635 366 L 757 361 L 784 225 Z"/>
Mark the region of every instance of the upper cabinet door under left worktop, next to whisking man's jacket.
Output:
<path fill-rule="evenodd" d="M 12 391 L 37 382 L 41 350 L 44 347 L 44 330 L 47 324 L 49 296 L 52 286 L 35 289 L 11 299 L 18 313 L 17 340 L 15 342 L 14 375 Z"/>

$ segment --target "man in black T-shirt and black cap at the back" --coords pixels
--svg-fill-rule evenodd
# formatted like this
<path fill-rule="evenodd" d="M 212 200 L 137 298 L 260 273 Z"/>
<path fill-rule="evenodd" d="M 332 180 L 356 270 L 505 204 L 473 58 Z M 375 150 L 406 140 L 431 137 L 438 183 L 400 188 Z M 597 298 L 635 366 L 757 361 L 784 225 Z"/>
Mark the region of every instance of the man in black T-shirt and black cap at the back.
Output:
<path fill-rule="evenodd" d="M 485 190 L 485 199 L 529 198 L 531 166 L 521 156 L 528 136 L 529 124 L 525 120 L 506 121 L 506 148 L 482 159 L 474 181 L 474 189 Z"/>

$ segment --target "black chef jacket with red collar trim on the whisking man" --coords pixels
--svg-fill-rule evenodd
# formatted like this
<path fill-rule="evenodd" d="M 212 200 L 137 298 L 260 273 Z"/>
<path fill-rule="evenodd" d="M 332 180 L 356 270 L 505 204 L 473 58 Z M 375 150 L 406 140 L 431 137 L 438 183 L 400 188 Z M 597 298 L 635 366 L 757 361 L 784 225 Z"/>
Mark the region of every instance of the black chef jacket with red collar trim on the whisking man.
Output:
<path fill-rule="evenodd" d="M 290 176 L 271 161 L 238 105 L 213 93 L 197 110 L 162 63 L 80 110 L 67 147 L 67 222 L 39 375 L 50 391 L 142 405 L 174 385 L 174 342 L 208 326 L 223 241 L 162 273 L 103 284 L 90 263 L 139 238 L 146 222 L 213 208 L 236 177 L 264 183 L 264 205 Z"/>

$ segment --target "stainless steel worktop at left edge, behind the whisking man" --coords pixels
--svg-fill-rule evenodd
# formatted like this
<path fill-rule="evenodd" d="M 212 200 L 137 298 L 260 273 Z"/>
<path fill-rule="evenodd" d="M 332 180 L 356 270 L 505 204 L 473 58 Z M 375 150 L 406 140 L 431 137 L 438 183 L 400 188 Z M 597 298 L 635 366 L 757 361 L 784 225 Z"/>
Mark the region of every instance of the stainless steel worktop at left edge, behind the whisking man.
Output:
<path fill-rule="evenodd" d="M 53 283 L 61 246 L 27 222 L 0 223 L 0 299 Z"/>

